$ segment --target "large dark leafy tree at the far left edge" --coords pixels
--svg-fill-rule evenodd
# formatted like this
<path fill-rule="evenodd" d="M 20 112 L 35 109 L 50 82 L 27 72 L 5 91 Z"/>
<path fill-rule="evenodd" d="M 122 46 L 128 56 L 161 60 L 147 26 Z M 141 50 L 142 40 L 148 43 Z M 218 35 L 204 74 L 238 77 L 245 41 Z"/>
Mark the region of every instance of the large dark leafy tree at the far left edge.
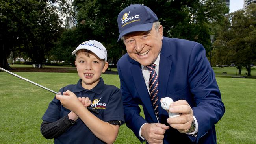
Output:
<path fill-rule="evenodd" d="M 53 1 L 0 1 L 0 66 L 9 69 L 7 57 L 20 50 L 33 63 L 42 64 L 59 35 L 59 18 Z"/>

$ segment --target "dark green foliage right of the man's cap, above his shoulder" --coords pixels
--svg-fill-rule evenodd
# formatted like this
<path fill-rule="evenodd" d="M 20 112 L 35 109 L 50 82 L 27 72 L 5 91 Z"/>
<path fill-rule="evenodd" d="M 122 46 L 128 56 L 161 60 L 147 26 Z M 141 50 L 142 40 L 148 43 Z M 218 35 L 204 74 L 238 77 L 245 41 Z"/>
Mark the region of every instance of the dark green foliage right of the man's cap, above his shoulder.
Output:
<path fill-rule="evenodd" d="M 209 35 L 216 32 L 213 28 L 221 25 L 228 13 L 222 0 L 173 0 L 157 11 L 167 36 L 199 42 L 206 54 L 211 46 Z"/>

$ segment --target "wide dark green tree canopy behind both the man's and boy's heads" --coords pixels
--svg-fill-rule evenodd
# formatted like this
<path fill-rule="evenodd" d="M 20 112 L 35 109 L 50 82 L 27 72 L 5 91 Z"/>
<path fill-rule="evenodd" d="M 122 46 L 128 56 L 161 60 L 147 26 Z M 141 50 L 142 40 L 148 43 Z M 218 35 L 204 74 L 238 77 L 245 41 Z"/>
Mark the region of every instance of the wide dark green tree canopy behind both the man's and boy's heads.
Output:
<path fill-rule="evenodd" d="M 67 0 L 68 1 L 68 0 Z M 208 54 L 210 46 L 211 25 L 222 24 L 224 14 L 228 12 L 223 0 L 74 0 L 72 6 L 77 11 L 77 28 L 74 42 L 76 46 L 83 41 L 95 39 L 106 47 L 108 59 L 116 64 L 125 51 L 122 41 L 117 42 L 119 36 L 117 15 L 130 4 L 144 4 L 150 7 L 158 16 L 164 27 L 164 36 L 178 37 L 200 42 Z M 70 31 L 69 31 L 70 32 Z M 67 39 L 64 34 L 61 39 Z M 59 48 L 72 52 L 76 46 L 60 40 L 63 45 Z M 67 49 L 66 49 L 67 48 Z M 56 49 L 58 52 L 58 50 Z M 61 52 L 58 55 L 62 55 Z M 66 59 L 66 56 L 62 56 Z"/>

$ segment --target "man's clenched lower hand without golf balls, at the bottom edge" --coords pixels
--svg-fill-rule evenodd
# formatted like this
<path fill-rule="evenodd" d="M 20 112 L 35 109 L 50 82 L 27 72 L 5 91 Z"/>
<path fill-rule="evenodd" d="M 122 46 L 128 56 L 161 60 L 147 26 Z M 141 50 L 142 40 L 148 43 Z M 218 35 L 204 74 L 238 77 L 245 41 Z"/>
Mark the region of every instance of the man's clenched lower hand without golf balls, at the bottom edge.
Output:
<path fill-rule="evenodd" d="M 169 126 L 160 123 L 145 124 L 141 127 L 141 136 L 150 144 L 162 144 L 163 134 Z"/>

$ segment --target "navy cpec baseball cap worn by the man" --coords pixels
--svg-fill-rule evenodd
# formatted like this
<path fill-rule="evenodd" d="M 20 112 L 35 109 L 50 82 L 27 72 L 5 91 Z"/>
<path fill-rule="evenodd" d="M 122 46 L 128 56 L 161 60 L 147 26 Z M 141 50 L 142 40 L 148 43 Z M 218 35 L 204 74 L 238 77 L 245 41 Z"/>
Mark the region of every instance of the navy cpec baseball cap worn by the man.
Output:
<path fill-rule="evenodd" d="M 119 41 L 122 36 L 135 31 L 149 31 L 158 21 L 156 14 L 147 6 L 132 4 L 123 9 L 118 17 Z"/>

